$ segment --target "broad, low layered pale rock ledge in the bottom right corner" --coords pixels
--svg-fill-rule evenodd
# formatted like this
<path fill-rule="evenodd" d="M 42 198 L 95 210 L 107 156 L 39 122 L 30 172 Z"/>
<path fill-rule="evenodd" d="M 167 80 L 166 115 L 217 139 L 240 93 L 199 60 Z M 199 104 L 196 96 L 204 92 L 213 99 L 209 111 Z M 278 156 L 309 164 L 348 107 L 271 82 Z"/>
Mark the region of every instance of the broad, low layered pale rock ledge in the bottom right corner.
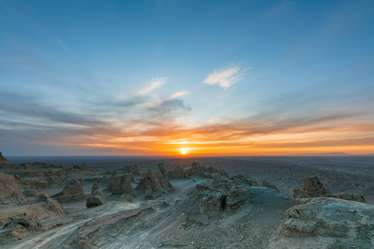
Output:
<path fill-rule="evenodd" d="M 331 248 L 373 248 L 374 206 L 355 201 L 319 197 L 286 212 L 283 229 L 299 234 L 339 238 Z"/>

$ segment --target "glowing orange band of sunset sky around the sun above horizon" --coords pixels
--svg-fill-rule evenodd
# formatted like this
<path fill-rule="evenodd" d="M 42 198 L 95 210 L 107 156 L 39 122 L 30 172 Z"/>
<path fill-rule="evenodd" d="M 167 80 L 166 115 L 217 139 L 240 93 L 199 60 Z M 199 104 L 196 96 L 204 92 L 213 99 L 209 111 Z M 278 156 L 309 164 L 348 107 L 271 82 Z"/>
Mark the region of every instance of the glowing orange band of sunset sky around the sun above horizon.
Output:
<path fill-rule="evenodd" d="M 305 127 L 304 127 L 305 128 Z M 250 133 L 247 127 L 155 127 L 144 131 L 127 128 L 89 136 L 66 137 L 53 145 L 112 151 L 116 155 L 139 156 L 281 156 L 343 152 L 374 154 L 374 124 L 347 125 L 277 132 Z M 256 131 L 257 132 L 257 131 Z"/>

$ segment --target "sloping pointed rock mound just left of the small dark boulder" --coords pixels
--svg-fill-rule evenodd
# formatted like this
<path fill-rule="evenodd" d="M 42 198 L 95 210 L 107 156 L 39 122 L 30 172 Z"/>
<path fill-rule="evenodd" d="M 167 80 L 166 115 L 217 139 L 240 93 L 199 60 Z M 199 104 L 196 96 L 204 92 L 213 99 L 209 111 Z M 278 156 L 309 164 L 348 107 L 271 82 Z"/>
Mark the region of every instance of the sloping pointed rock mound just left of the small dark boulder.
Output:
<path fill-rule="evenodd" d="M 64 187 L 62 192 L 55 194 L 52 198 L 57 199 L 60 203 L 69 203 L 72 201 L 82 201 L 86 199 L 83 192 L 83 180 L 71 181 L 68 185 Z"/>

